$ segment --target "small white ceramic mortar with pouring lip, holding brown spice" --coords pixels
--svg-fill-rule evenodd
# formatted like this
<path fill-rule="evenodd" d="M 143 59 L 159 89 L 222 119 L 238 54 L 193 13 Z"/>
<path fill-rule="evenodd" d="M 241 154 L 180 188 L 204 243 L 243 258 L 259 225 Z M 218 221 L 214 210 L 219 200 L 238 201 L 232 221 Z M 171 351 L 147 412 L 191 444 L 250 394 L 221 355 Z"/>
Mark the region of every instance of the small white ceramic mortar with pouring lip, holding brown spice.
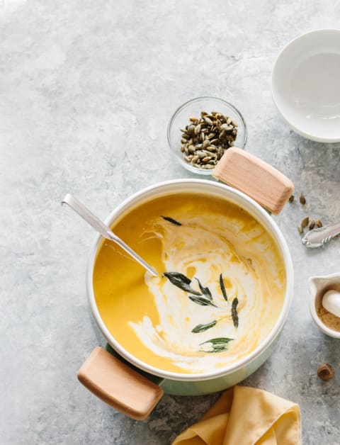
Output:
<path fill-rule="evenodd" d="M 340 274 L 310 277 L 310 315 L 319 329 L 329 337 L 340 339 L 340 332 L 330 329 L 319 319 L 317 306 L 321 303 L 323 295 L 330 289 L 340 292 Z"/>

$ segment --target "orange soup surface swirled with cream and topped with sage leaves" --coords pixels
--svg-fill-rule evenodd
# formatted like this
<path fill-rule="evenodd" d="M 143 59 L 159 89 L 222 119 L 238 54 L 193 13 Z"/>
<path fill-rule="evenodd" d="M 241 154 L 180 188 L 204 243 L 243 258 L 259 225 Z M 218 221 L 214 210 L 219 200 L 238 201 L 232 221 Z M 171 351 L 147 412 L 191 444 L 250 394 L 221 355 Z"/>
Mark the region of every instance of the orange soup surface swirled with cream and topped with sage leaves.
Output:
<path fill-rule="evenodd" d="M 111 228 L 159 272 L 150 276 L 108 240 L 98 250 L 98 311 L 137 359 L 165 371 L 213 371 L 271 332 L 285 295 L 283 259 L 242 208 L 176 193 L 143 203 Z"/>

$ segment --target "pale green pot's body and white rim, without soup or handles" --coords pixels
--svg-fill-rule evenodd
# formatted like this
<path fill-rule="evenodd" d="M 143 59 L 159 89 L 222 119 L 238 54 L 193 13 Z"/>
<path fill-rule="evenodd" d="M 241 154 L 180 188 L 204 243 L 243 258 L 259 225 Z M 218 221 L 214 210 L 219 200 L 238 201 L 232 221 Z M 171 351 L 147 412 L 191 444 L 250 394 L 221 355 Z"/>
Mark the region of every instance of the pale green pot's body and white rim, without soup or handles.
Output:
<path fill-rule="evenodd" d="M 108 343 L 118 352 L 120 356 L 130 362 L 130 364 L 136 366 L 142 371 L 152 374 L 153 376 L 159 376 L 165 379 L 162 383 L 162 388 L 167 393 L 178 394 L 178 395 L 199 395 L 204 393 L 213 393 L 229 386 L 239 383 L 239 381 L 244 380 L 252 372 L 256 371 L 263 362 L 268 359 L 271 351 L 274 347 L 275 340 L 283 328 L 284 322 L 288 316 L 288 310 L 290 308 L 290 303 L 293 293 L 293 264 L 290 258 L 290 253 L 287 244 L 283 238 L 282 233 L 278 229 L 278 226 L 273 221 L 270 215 L 263 210 L 259 204 L 257 204 L 253 199 L 246 196 L 244 193 L 235 190 L 224 184 L 205 181 L 204 179 L 177 179 L 173 181 L 166 181 L 160 184 L 155 184 L 154 186 L 147 187 L 142 191 L 135 193 L 130 198 L 126 199 L 121 205 L 116 208 L 111 215 L 106 218 L 106 224 L 111 226 L 114 221 L 120 217 L 123 213 L 128 212 L 136 205 L 140 205 L 145 201 L 149 201 L 151 198 L 157 198 L 158 196 L 166 196 L 169 193 L 191 193 L 200 191 L 206 195 L 220 196 L 226 201 L 232 202 L 239 205 L 249 212 L 256 220 L 263 225 L 263 227 L 272 235 L 273 239 L 276 240 L 278 248 L 283 256 L 283 261 L 285 263 L 286 272 L 286 289 L 285 289 L 285 300 L 283 303 L 283 308 L 280 312 L 278 320 L 271 330 L 268 337 L 263 340 L 261 344 L 251 354 L 239 359 L 236 364 L 221 367 L 218 370 L 207 371 L 200 374 L 187 374 L 187 373 L 175 373 L 167 372 L 159 368 L 155 368 L 135 356 L 130 354 L 125 348 L 123 348 L 113 337 L 111 332 L 104 324 L 101 315 L 99 314 L 96 299 L 94 296 L 94 286 L 93 286 L 93 272 L 94 272 L 94 262 L 96 260 L 96 254 L 98 248 L 101 245 L 102 237 L 100 235 L 96 236 L 96 241 L 91 249 L 91 254 L 89 257 L 89 264 L 87 269 L 86 277 L 86 287 L 87 293 L 89 295 L 89 303 L 94 314 L 94 318 L 97 322 L 98 327 L 101 329 L 104 337 Z"/>

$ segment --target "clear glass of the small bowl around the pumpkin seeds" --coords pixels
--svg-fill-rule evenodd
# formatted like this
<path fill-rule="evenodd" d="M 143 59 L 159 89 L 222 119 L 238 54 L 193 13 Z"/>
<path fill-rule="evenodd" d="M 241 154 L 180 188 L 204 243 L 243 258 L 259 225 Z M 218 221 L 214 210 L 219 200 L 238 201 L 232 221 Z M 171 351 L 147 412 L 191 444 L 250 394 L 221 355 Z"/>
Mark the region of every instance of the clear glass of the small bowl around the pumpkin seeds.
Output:
<path fill-rule="evenodd" d="M 172 154 L 174 154 L 174 157 L 176 157 L 179 163 L 187 170 L 197 174 L 211 175 L 214 169 L 208 170 L 195 167 L 190 162 L 186 162 L 184 154 L 181 152 L 181 138 L 183 134 L 181 128 L 183 129 L 186 128 L 186 125 L 190 125 L 191 122 L 189 119 L 191 117 L 200 118 L 201 111 L 207 111 L 208 113 L 218 111 L 224 116 L 229 116 L 229 118 L 237 123 L 237 138 L 234 141 L 235 147 L 244 148 L 246 145 L 246 123 L 237 108 L 218 97 L 201 96 L 193 98 L 191 101 L 183 103 L 183 105 L 177 108 L 168 125 L 168 142 Z"/>

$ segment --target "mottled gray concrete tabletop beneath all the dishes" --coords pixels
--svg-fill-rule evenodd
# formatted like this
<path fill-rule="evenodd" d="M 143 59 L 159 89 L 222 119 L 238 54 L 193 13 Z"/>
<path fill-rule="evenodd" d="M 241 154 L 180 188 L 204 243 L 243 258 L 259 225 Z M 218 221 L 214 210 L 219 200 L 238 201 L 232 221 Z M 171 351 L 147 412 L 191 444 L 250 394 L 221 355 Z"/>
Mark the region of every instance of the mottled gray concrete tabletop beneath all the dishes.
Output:
<path fill-rule="evenodd" d="M 293 256 L 293 307 L 244 384 L 298 402 L 304 444 L 340 443 L 340 343 L 307 308 L 307 278 L 340 272 L 340 240 L 309 252 L 296 229 L 304 215 L 340 220 L 340 144 L 293 133 L 270 91 L 280 48 L 339 20 L 339 0 L 0 0 L 1 445 L 169 444 L 216 400 L 166 395 L 138 423 L 77 382 L 104 344 L 84 285 L 94 233 L 60 206 L 72 192 L 105 218 L 142 187 L 193 177 L 171 158 L 166 125 L 205 94 L 244 113 L 246 149 L 307 197 L 275 218 Z M 316 374 L 324 362 L 328 382 Z"/>

